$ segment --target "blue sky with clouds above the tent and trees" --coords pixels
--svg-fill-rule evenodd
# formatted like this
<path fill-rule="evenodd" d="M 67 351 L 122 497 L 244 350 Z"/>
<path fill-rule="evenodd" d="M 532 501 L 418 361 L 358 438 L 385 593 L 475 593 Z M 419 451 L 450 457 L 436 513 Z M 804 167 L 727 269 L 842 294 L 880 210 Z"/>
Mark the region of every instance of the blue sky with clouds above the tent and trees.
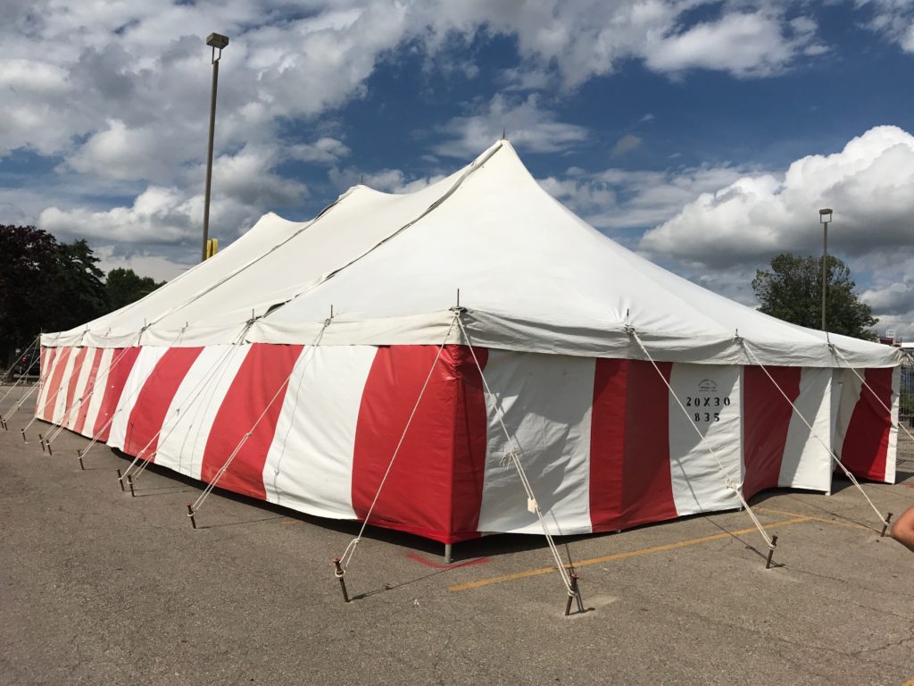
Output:
<path fill-rule="evenodd" d="M 306 220 L 364 177 L 420 188 L 504 129 L 613 239 L 752 303 L 816 252 L 914 338 L 914 3 L 13 2 L 0 221 L 165 278 L 197 259 L 209 64 L 226 33 L 213 228 Z"/>

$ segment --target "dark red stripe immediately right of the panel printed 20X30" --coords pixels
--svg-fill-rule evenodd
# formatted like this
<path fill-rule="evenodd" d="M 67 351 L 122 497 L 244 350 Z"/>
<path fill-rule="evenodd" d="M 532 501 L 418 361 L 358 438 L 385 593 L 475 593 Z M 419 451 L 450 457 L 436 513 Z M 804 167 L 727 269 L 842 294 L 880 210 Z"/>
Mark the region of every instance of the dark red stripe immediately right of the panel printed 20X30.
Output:
<path fill-rule="evenodd" d="M 743 494 L 746 498 L 764 488 L 775 488 L 781 476 L 781 461 L 787 446 L 793 408 L 784 400 L 778 387 L 791 402 L 800 397 L 802 369 L 767 369 L 774 383 L 760 367 L 743 368 L 743 460 L 746 466 Z"/>

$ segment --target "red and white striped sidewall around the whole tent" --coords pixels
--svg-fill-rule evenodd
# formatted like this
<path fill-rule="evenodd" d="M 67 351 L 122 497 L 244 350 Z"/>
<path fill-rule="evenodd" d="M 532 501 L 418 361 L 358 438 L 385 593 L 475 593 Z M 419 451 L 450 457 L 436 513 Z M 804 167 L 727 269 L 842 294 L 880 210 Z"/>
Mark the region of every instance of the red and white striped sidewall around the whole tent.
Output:
<path fill-rule="evenodd" d="M 204 481 L 231 457 L 221 488 L 344 520 L 397 450 L 372 523 L 445 542 L 541 531 L 502 421 L 557 534 L 739 507 L 728 479 L 828 492 L 831 445 L 895 477 L 898 370 L 861 370 L 890 416 L 851 370 L 437 350 L 51 348 L 37 415 Z"/>

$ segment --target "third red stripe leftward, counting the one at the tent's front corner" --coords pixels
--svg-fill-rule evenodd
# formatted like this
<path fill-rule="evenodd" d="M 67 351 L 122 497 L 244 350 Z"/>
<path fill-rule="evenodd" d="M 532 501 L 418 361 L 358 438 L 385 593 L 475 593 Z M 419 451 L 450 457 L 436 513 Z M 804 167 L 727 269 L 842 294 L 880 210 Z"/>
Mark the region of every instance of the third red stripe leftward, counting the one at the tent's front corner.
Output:
<path fill-rule="evenodd" d="M 140 451 L 146 448 L 143 457 L 154 460 L 165 413 L 175 398 L 178 386 L 202 351 L 203 348 L 169 348 L 165 351 L 133 403 L 123 452 L 140 456 Z"/>

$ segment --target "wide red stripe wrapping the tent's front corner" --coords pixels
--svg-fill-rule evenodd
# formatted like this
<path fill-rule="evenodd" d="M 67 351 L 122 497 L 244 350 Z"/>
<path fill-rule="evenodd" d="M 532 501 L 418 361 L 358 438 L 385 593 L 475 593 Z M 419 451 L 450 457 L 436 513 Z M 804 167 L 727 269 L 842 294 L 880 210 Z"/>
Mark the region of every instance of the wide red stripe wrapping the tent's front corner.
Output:
<path fill-rule="evenodd" d="M 484 365 L 487 352 L 474 349 Z M 430 346 L 378 348 L 358 413 L 352 503 L 364 518 L 434 363 L 371 523 L 448 543 L 478 535 L 487 414 L 470 349 L 437 355 Z"/>

